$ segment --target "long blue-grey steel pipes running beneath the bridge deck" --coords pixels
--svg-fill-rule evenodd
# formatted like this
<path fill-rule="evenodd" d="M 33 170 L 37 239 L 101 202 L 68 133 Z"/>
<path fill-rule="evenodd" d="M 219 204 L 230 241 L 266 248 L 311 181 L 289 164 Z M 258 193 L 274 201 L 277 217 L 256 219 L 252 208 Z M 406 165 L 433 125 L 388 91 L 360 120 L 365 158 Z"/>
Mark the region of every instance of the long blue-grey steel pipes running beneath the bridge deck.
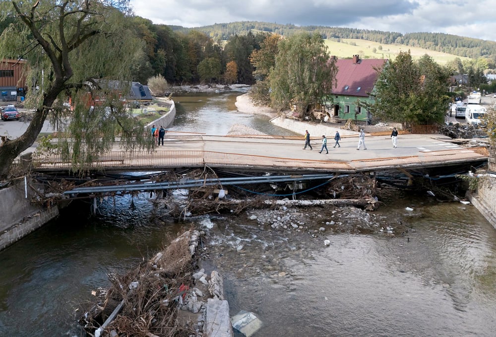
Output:
<path fill-rule="evenodd" d="M 305 182 L 312 180 L 330 180 L 335 178 L 335 174 L 312 174 L 312 175 L 283 175 L 283 176 L 262 176 L 262 177 L 238 177 L 238 178 L 211 178 L 211 179 L 181 179 L 174 182 L 141 183 L 129 185 L 109 185 L 93 187 L 77 187 L 63 192 L 64 195 L 76 194 L 97 194 L 110 192 L 145 192 L 155 190 L 176 190 L 195 187 L 216 186 L 216 185 L 238 185 L 238 184 L 260 184 L 260 183 L 291 183 Z"/>

